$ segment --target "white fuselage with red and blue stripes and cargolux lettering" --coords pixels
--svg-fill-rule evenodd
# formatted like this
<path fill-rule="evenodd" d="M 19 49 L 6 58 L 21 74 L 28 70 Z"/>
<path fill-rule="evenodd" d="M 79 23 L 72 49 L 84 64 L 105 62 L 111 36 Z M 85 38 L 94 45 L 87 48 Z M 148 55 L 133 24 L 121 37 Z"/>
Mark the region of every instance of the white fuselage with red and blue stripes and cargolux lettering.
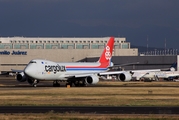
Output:
<path fill-rule="evenodd" d="M 24 69 L 25 74 L 38 80 L 67 80 L 69 77 L 106 71 L 101 63 L 56 63 L 48 60 L 32 60 Z"/>

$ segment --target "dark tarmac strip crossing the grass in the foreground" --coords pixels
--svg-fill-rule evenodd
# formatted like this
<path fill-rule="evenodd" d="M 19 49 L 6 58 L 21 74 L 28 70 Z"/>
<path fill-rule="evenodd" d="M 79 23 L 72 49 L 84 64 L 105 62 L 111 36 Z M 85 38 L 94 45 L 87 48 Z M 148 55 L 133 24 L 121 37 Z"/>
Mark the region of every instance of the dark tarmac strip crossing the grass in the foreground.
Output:
<path fill-rule="evenodd" d="M 0 113 L 179 114 L 179 107 L 0 106 Z"/>

